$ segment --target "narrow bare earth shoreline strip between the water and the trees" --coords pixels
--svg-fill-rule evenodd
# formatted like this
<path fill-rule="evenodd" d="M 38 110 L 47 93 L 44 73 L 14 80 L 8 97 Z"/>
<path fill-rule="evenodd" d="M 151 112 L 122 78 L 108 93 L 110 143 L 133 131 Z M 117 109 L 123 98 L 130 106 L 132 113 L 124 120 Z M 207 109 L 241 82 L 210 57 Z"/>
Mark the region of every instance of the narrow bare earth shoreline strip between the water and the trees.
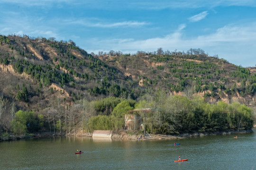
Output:
<path fill-rule="evenodd" d="M 255 127 L 253 128 L 255 129 Z M 216 136 L 216 135 L 231 135 L 231 134 L 245 134 L 245 133 L 253 133 L 254 130 L 241 130 L 237 131 L 224 131 L 224 132 L 214 132 L 214 133 L 202 133 L 202 132 L 195 132 L 195 133 L 183 133 L 183 134 L 173 134 L 173 135 L 164 135 L 164 134 L 154 134 L 151 137 L 145 137 L 144 134 L 132 134 L 128 135 L 128 131 L 120 130 L 118 132 L 113 132 L 111 139 L 120 139 L 120 140 L 138 140 L 142 135 L 140 140 L 161 140 L 161 139 L 182 139 L 188 137 L 199 137 L 199 136 Z M 0 141 L 12 141 L 12 140 L 19 140 L 19 139 L 27 139 L 27 138 L 51 138 L 51 137 L 60 137 L 60 136 L 74 136 L 74 135 L 66 135 L 66 134 L 51 134 L 49 132 L 44 133 L 35 133 L 25 136 L 14 136 L 9 135 L 6 137 L 1 137 Z M 82 136 L 82 133 L 77 133 L 75 136 Z M 92 137 L 88 135 L 83 135 L 83 137 Z"/>

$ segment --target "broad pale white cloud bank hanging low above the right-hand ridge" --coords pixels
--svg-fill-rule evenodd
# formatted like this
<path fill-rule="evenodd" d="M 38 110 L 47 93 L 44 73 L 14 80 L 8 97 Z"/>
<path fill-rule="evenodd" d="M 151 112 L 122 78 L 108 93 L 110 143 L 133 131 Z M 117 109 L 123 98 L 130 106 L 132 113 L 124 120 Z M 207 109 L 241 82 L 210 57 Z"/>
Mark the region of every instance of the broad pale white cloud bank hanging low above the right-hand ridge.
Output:
<path fill-rule="evenodd" d="M 213 34 L 201 35 L 190 39 L 183 38 L 182 30 L 184 28 L 185 25 L 181 25 L 172 34 L 146 40 L 94 40 L 95 50 L 90 50 L 89 52 L 97 53 L 99 46 L 101 51 L 106 49 L 105 52 L 108 52 L 111 49 L 114 51 L 120 50 L 124 53 L 156 51 L 159 47 L 162 47 L 164 51 L 173 51 L 174 49 L 187 51 L 190 48 L 201 48 L 210 55 L 218 54 L 220 58 L 227 59 L 236 65 L 241 64 L 243 67 L 248 67 L 256 64 L 256 23 L 247 24 L 247 26 L 224 26 Z"/>

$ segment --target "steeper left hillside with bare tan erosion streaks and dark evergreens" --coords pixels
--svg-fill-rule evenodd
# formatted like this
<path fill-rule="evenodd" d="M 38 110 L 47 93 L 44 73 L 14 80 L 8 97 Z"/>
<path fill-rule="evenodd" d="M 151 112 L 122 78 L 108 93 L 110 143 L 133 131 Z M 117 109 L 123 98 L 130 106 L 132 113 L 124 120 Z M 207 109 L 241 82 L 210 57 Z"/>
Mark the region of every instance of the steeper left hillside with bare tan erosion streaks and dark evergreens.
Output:
<path fill-rule="evenodd" d="M 0 91 L 22 110 L 44 109 L 53 95 L 68 104 L 82 97 L 126 98 L 130 89 L 139 88 L 116 68 L 66 42 L 19 36 L 1 36 L 0 42 Z M 27 99 L 18 99 L 24 86 Z"/>

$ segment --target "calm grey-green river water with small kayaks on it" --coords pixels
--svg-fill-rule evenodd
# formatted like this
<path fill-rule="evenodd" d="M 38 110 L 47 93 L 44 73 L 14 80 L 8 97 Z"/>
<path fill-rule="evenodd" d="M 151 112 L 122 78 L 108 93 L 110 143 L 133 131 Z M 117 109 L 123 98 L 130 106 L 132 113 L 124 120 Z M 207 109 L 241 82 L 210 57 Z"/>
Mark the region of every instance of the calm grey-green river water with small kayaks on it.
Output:
<path fill-rule="evenodd" d="M 255 129 L 254 129 L 255 131 Z M 256 133 L 176 140 L 86 137 L 0 142 L 0 170 L 256 170 Z M 174 142 L 180 145 L 172 145 Z M 77 149 L 84 151 L 74 154 Z M 179 155 L 184 162 L 174 162 Z"/>

